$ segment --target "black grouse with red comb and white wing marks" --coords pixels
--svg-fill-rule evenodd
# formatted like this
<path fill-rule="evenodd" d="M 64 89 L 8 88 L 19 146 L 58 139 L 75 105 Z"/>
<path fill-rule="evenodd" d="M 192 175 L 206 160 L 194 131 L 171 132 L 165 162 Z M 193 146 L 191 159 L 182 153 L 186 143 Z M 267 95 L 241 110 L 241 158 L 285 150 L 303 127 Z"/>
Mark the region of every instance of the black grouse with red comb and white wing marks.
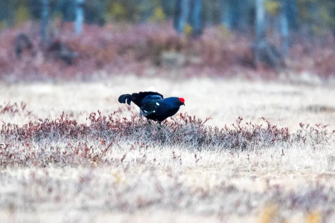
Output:
<path fill-rule="evenodd" d="M 120 103 L 134 102 L 140 108 L 140 116 L 157 121 L 159 124 L 166 118 L 175 115 L 181 105 L 185 105 L 182 97 L 168 97 L 153 91 L 145 91 L 132 94 L 122 94 Z"/>

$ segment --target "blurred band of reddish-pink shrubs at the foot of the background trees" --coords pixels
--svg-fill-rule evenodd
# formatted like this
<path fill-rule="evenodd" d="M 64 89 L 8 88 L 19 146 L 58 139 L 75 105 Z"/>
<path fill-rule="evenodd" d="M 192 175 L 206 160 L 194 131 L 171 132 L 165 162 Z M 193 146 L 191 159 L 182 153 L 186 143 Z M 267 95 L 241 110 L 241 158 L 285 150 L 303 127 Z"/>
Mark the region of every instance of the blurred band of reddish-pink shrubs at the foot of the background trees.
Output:
<path fill-rule="evenodd" d="M 198 39 L 179 36 L 170 23 L 108 24 L 105 27 L 85 25 L 80 36 L 73 34 L 70 23 L 56 27 L 59 34 L 54 35 L 54 40 L 66 43 L 78 52 L 73 65 L 67 66 L 64 61 L 47 54 L 36 32 L 38 24 L 29 23 L 24 28 L 5 29 L 0 33 L 0 79 L 77 79 L 78 76 L 81 79 L 92 79 L 92 74 L 98 70 L 104 70 L 109 75 L 145 75 L 150 67 L 156 67 L 156 74 L 160 74 L 160 68 L 163 67 L 160 56 L 166 51 L 185 55 L 180 68 L 186 76 L 243 75 L 247 78 L 261 76 L 269 79 L 277 73 L 264 67 L 255 68 L 251 50 L 252 36 L 231 33 L 221 27 L 205 29 Z M 13 44 L 21 32 L 28 35 L 34 47 L 31 52 L 23 52 L 21 59 L 16 59 Z M 333 36 L 314 41 L 302 38 L 302 35 L 292 35 L 291 42 L 288 70 L 297 74 L 310 71 L 321 77 L 335 74 Z"/>

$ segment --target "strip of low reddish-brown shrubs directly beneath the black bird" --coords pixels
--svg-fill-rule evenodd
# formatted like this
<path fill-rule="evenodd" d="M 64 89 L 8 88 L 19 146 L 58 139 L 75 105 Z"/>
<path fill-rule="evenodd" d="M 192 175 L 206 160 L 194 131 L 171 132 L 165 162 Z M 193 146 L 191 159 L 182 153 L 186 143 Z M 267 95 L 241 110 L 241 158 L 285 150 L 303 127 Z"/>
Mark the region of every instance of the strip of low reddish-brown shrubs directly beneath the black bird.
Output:
<path fill-rule="evenodd" d="M 89 124 L 78 124 L 64 113 L 60 118 L 39 119 L 19 126 L 13 123 L 3 123 L 0 134 L 7 142 L 59 142 L 91 139 L 108 149 L 113 144 L 139 143 L 142 146 L 176 146 L 186 149 L 215 150 L 245 150 L 259 148 L 264 145 L 290 145 L 292 143 L 323 144 L 332 140 L 333 132 L 328 132 L 328 126 L 300 124 L 301 129 L 290 133 L 288 128 L 279 128 L 270 124 L 264 118 L 265 125 L 242 123 L 239 117 L 236 124 L 224 128 L 205 125 L 210 118 L 200 120 L 187 114 L 179 114 L 178 118 L 165 120 L 160 127 L 148 124 L 138 116 L 131 119 L 118 118 L 115 111 L 108 117 L 101 113 L 91 113 L 87 118 Z M 15 114 L 15 111 L 13 111 Z M 6 145 L 8 147 L 9 145 Z M 78 147 L 79 148 L 79 147 Z M 81 148 L 81 147 L 80 147 Z M 1 150 L 0 156 L 3 156 Z"/>

